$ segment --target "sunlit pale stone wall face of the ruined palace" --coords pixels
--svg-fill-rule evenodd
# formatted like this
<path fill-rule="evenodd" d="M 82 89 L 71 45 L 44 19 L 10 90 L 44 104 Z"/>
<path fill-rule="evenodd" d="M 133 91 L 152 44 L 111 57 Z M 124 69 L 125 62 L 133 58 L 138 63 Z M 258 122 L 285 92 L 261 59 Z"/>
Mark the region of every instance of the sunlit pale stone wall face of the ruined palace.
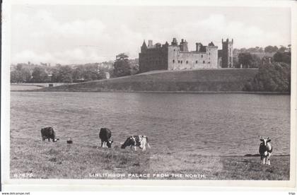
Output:
<path fill-rule="evenodd" d="M 206 47 L 206 52 L 181 52 L 178 47 L 168 47 L 168 70 L 216 68 L 218 47 Z"/>

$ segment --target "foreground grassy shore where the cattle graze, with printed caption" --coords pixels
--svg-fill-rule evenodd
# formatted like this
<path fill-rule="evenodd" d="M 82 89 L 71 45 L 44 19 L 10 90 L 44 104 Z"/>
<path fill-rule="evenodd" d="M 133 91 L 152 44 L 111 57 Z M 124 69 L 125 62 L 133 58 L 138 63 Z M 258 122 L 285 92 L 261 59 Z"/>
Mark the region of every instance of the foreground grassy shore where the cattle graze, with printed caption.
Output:
<path fill-rule="evenodd" d="M 28 141 L 11 138 L 11 178 L 121 179 L 92 177 L 96 173 L 163 173 L 169 177 L 142 179 L 187 179 L 171 174 L 197 174 L 194 179 L 289 179 L 289 155 L 272 155 L 272 165 L 260 165 L 255 156 L 204 156 L 198 153 L 152 153 L 141 150 L 97 148 L 80 144 Z M 28 176 L 19 175 L 28 173 Z M 193 178 L 192 178 L 193 179 Z"/>

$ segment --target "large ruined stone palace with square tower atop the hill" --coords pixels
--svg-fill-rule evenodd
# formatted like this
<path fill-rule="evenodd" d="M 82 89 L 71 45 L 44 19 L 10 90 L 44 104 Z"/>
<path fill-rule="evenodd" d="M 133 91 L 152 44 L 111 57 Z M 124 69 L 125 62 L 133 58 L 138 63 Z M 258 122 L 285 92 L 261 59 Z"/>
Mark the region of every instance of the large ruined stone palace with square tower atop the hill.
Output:
<path fill-rule="evenodd" d="M 233 40 L 223 42 L 223 49 L 210 42 L 204 46 L 196 43 L 195 51 L 189 52 L 187 41 L 180 44 L 173 38 L 171 45 L 165 42 L 164 45 L 148 40 L 141 46 L 139 53 L 139 71 L 141 73 L 153 70 L 182 70 L 182 69 L 218 69 L 233 67 Z"/>

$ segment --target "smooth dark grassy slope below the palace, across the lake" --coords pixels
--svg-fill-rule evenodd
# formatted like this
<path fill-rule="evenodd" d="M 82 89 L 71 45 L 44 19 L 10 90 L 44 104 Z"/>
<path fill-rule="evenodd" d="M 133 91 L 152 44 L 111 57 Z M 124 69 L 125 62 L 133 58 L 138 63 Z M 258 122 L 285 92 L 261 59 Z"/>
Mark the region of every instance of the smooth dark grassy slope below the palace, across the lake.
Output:
<path fill-rule="evenodd" d="M 151 71 L 42 90 L 55 91 L 242 91 L 257 69 L 199 69 L 192 71 Z"/>

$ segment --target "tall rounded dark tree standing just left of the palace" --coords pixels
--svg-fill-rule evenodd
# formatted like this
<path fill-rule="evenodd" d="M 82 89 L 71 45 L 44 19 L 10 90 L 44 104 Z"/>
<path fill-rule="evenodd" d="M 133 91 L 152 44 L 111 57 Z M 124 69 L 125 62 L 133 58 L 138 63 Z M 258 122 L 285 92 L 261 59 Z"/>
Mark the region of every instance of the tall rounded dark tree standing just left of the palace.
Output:
<path fill-rule="evenodd" d="M 113 76 L 119 77 L 131 75 L 132 64 L 129 62 L 127 54 L 118 54 L 113 66 Z"/>

